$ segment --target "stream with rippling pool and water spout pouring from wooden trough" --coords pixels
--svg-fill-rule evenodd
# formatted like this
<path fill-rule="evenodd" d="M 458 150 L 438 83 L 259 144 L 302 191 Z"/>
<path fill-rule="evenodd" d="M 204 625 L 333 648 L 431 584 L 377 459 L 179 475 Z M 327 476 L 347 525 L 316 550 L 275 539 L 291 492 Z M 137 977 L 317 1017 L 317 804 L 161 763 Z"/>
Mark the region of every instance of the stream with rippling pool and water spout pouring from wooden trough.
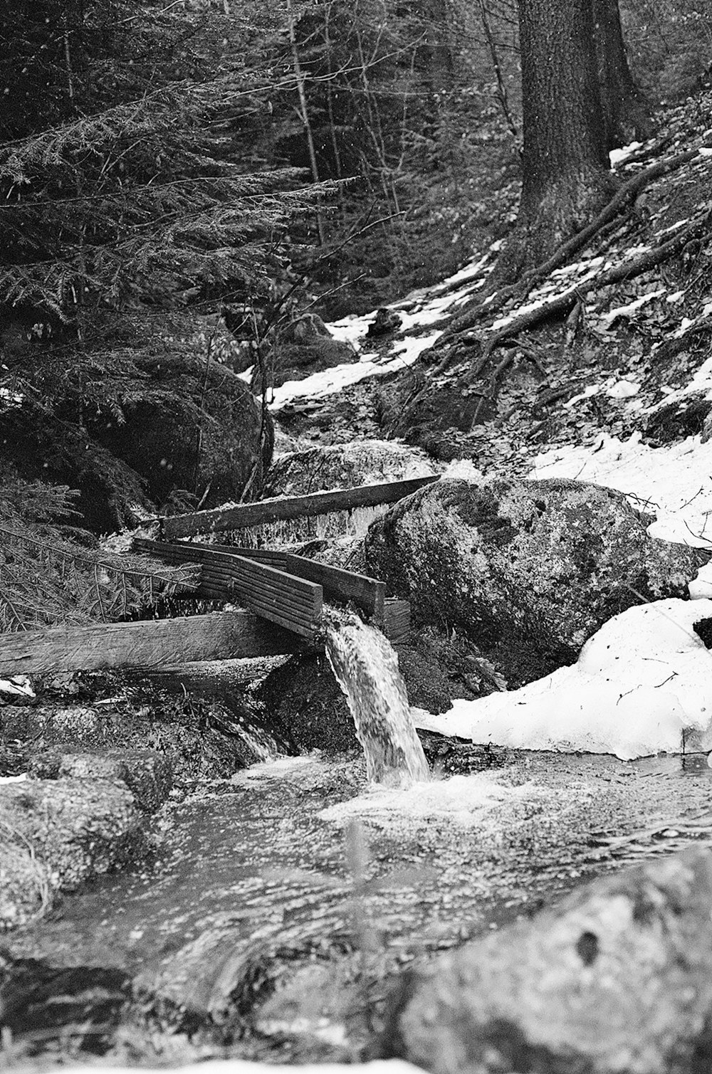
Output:
<path fill-rule="evenodd" d="M 703 755 L 520 752 L 500 768 L 428 773 L 379 639 L 354 616 L 331 623 L 328 651 L 364 757 L 277 757 L 195 784 L 155 817 L 152 860 L 8 935 L 18 964 L 63 973 L 63 1024 L 48 1031 L 45 1017 L 40 1033 L 35 997 L 17 1040 L 46 1058 L 74 1033 L 100 1053 L 128 1034 L 143 1059 L 176 1037 L 201 1055 L 353 1061 L 413 959 L 606 871 L 711 840 Z M 108 1005 L 107 981 L 120 996 Z M 92 982 L 104 1005 L 88 1032 Z"/>

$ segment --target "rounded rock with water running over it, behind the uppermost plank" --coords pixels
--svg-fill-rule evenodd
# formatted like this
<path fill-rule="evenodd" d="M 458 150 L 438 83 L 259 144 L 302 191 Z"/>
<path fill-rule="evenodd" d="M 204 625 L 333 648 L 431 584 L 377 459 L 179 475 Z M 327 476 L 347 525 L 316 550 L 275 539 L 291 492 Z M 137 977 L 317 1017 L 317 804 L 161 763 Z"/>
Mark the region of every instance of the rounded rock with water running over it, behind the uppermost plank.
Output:
<path fill-rule="evenodd" d="M 355 440 L 282 455 L 270 470 L 268 496 L 302 496 L 321 489 L 350 489 L 435 474 L 416 448 L 392 440 Z"/>

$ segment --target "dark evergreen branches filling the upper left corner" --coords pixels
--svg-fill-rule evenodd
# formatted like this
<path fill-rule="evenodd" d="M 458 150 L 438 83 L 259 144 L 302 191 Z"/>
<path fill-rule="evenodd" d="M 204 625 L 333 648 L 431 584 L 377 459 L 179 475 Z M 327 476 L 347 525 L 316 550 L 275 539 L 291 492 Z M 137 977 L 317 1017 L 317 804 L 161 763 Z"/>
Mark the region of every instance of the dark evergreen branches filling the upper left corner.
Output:
<path fill-rule="evenodd" d="M 105 432 L 150 401 L 199 444 L 219 358 L 201 330 L 212 340 L 216 313 L 270 292 L 289 219 L 314 200 L 294 170 L 233 159 L 256 72 L 220 59 L 214 16 L 137 0 L 3 13 L 4 55 L 25 67 L 0 74 L 0 430 L 26 477 L 79 488 L 100 528 L 147 503 Z"/>

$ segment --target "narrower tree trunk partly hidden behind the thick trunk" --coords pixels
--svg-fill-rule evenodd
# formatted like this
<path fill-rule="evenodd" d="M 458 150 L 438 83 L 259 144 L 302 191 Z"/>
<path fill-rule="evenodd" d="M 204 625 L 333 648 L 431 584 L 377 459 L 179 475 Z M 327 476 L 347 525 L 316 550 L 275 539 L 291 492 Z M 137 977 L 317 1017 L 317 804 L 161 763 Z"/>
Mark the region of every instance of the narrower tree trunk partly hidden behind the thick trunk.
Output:
<path fill-rule="evenodd" d="M 645 99 L 628 67 L 619 0 L 593 0 L 593 10 L 606 143 L 615 149 L 634 137 L 644 141 L 653 128 Z"/>

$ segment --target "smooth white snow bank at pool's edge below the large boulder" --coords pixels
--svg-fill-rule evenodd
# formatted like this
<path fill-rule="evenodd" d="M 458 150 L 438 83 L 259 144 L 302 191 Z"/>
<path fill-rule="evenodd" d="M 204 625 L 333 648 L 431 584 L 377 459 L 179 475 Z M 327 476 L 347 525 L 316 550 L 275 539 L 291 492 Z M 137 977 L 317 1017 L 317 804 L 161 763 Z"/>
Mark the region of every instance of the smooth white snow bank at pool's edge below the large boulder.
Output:
<path fill-rule="evenodd" d="M 694 626 L 712 600 L 657 600 L 622 612 L 572 667 L 520 690 L 455 700 L 417 726 L 526 750 L 613 753 L 623 760 L 712 746 L 712 654 Z"/>

